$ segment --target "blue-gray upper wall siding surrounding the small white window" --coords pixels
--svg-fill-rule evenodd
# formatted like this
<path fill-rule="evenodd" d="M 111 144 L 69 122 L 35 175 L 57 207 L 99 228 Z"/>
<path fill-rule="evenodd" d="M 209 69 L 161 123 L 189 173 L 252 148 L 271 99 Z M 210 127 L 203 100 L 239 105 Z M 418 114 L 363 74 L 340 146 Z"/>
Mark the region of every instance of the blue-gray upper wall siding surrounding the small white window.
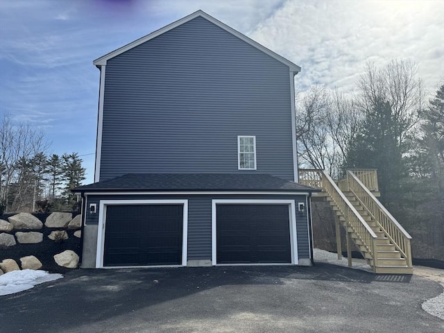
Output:
<path fill-rule="evenodd" d="M 293 180 L 289 67 L 197 17 L 108 60 L 100 180 L 270 173 Z M 238 171 L 255 135 L 257 171 Z"/>

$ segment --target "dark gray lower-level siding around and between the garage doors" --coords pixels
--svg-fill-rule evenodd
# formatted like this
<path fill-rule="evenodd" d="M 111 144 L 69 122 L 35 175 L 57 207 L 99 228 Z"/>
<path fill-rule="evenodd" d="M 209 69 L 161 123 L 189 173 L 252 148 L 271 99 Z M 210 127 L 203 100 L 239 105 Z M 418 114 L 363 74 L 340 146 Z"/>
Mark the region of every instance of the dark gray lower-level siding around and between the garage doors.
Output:
<path fill-rule="evenodd" d="M 288 195 L 196 195 L 196 196 L 158 196 L 158 195 L 116 195 L 116 196 L 88 196 L 89 203 L 97 203 L 98 212 L 91 214 L 87 210 L 87 225 L 99 223 L 100 200 L 162 200 L 188 199 L 188 259 L 211 259 L 212 257 L 212 199 L 273 199 L 295 200 L 296 203 L 296 231 L 298 240 L 299 259 L 309 258 L 309 231 L 307 225 L 307 210 L 298 212 L 298 203 L 306 203 L 306 196 Z"/>

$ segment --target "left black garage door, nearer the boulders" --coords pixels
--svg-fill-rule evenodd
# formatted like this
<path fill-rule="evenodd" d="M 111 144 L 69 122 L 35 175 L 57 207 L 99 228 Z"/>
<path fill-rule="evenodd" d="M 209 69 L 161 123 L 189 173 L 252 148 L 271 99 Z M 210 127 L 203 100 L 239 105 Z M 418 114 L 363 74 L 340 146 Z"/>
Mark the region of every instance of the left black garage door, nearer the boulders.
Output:
<path fill-rule="evenodd" d="M 103 266 L 182 264 L 183 205 L 108 205 Z"/>

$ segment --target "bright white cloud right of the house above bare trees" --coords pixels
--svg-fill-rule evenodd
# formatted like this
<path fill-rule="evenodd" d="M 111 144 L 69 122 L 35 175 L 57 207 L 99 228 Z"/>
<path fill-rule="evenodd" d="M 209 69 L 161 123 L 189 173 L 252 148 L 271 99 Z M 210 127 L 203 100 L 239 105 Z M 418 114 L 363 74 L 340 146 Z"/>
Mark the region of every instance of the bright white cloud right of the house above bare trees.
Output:
<path fill-rule="evenodd" d="M 300 65 L 303 88 L 317 82 L 350 92 L 366 62 L 394 58 L 418 63 L 435 87 L 444 72 L 443 17 L 441 1 L 287 1 L 251 37 Z"/>

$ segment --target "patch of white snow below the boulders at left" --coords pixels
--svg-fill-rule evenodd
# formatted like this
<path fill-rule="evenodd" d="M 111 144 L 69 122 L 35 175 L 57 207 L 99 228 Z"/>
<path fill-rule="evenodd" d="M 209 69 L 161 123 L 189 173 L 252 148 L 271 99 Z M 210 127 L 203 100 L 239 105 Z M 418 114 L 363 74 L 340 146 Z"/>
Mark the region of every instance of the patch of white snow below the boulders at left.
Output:
<path fill-rule="evenodd" d="M 0 275 L 0 296 L 19 293 L 33 288 L 36 284 L 54 281 L 63 278 L 62 274 L 53 274 L 46 271 L 24 269 L 11 271 Z"/>

